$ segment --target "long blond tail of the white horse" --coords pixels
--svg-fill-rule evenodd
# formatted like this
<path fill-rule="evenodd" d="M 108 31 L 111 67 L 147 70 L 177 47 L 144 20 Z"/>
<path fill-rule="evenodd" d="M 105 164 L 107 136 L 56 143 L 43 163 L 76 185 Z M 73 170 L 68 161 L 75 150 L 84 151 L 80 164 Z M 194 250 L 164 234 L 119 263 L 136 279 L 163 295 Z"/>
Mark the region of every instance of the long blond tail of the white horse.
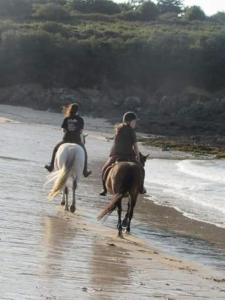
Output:
<path fill-rule="evenodd" d="M 49 181 L 54 181 L 51 191 L 48 194 L 48 199 L 52 200 L 55 198 L 66 184 L 67 179 L 70 176 L 71 170 L 74 165 L 75 155 L 68 158 L 63 164 L 62 168 L 51 174 Z"/>

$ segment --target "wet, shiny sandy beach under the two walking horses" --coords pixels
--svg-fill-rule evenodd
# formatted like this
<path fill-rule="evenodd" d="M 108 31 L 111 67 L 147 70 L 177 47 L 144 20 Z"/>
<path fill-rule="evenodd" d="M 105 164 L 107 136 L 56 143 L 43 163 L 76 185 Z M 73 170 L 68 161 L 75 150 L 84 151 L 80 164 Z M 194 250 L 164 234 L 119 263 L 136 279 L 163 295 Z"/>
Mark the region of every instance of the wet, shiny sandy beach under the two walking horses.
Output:
<path fill-rule="evenodd" d="M 47 201 L 43 166 L 61 138 L 61 121 L 60 114 L 0 105 L 0 299 L 224 299 L 222 270 L 138 235 L 138 227 L 145 225 L 176 239 L 190 237 L 225 249 L 223 228 L 188 219 L 142 196 L 132 234 L 124 239 L 117 237 L 116 212 L 103 223 L 96 221 L 109 201 L 98 196 L 101 166 L 111 146 L 112 126 L 106 120 L 85 118 L 93 175 L 79 184 L 75 214 L 62 209 L 60 197 Z M 189 156 L 142 149 L 152 157 Z"/>

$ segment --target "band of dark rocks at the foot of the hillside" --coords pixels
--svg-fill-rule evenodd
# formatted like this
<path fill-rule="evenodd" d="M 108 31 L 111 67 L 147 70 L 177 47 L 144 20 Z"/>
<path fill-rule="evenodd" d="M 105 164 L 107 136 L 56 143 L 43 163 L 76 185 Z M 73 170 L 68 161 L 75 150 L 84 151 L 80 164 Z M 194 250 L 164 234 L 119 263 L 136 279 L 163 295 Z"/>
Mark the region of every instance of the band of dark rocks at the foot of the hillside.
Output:
<path fill-rule="evenodd" d="M 40 110 L 61 111 L 71 102 L 78 102 L 82 114 L 104 117 L 113 123 L 128 110 L 139 117 L 139 130 L 160 135 L 224 135 L 225 90 L 210 94 L 188 87 L 166 93 L 132 88 L 102 89 L 45 88 L 24 84 L 0 88 L 0 103 Z"/>

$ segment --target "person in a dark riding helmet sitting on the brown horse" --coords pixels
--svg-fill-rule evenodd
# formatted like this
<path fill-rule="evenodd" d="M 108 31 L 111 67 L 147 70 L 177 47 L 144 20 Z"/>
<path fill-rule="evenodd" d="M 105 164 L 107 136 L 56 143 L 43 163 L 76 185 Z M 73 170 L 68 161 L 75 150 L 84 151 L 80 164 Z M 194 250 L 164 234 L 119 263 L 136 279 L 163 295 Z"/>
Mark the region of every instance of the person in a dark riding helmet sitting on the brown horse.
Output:
<path fill-rule="evenodd" d="M 137 116 L 134 112 L 126 112 L 123 115 L 123 122 L 116 126 L 116 133 L 114 136 L 114 143 L 110 151 L 109 159 L 102 168 L 102 183 L 103 190 L 100 193 L 101 196 L 107 194 L 105 181 L 110 170 L 110 167 L 116 161 L 131 161 L 136 162 L 141 169 L 142 174 L 142 188 L 140 193 L 145 193 L 144 189 L 144 168 L 140 164 L 140 154 L 137 145 L 136 133 L 134 131 L 136 127 Z"/>

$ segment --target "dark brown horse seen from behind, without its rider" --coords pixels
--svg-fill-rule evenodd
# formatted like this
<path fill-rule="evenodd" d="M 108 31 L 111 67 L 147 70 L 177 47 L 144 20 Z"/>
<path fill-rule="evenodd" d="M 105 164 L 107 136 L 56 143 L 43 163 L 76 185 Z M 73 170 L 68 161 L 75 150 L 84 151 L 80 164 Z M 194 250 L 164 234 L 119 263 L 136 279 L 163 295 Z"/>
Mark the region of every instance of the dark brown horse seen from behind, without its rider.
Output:
<path fill-rule="evenodd" d="M 148 158 L 140 153 L 140 162 L 144 167 Z M 110 169 L 106 178 L 106 187 L 113 195 L 111 202 L 102 210 L 97 217 L 101 220 L 106 214 L 110 214 L 116 207 L 118 212 L 118 236 L 122 237 L 123 228 L 129 233 L 133 211 L 137 202 L 138 195 L 142 189 L 144 176 L 143 168 L 135 162 L 116 162 Z M 128 209 L 122 222 L 122 199 L 128 197 Z"/>

